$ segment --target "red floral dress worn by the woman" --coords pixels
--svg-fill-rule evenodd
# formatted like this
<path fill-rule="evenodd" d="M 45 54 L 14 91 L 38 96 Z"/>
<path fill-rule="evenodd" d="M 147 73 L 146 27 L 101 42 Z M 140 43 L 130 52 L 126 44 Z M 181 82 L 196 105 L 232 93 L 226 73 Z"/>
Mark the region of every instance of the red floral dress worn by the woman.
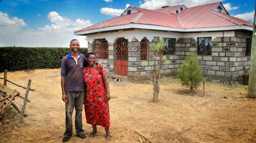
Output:
<path fill-rule="evenodd" d="M 106 71 L 98 68 L 95 65 L 92 69 L 84 67 L 84 84 L 86 89 L 86 106 L 85 116 L 86 121 L 92 125 L 99 125 L 105 128 L 110 126 L 108 101 L 106 102 L 106 90 L 102 81 L 102 74 Z"/>

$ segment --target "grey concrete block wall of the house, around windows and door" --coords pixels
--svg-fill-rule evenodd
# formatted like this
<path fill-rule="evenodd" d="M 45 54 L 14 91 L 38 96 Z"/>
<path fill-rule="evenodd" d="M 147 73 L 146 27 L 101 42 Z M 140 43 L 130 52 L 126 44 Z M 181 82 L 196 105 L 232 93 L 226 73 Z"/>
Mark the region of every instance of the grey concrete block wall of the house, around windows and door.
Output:
<path fill-rule="evenodd" d="M 155 37 L 150 45 L 156 44 Z M 250 68 L 250 56 L 245 56 L 246 39 L 242 37 L 216 37 L 212 39 L 212 55 L 198 55 L 198 64 L 205 75 L 236 77 L 246 73 Z M 108 43 L 109 59 L 97 59 L 108 73 L 114 73 L 114 44 Z M 190 52 L 197 54 L 197 41 L 193 38 L 179 38 L 176 42 L 175 55 L 164 55 L 161 73 L 176 74 L 182 62 Z M 88 52 L 92 44 L 88 44 Z M 158 55 L 158 54 L 157 54 Z M 159 56 L 157 58 L 157 65 Z M 140 42 L 134 37 L 128 42 L 128 76 L 149 76 L 153 69 L 153 51 L 148 49 L 148 60 L 140 60 Z"/>

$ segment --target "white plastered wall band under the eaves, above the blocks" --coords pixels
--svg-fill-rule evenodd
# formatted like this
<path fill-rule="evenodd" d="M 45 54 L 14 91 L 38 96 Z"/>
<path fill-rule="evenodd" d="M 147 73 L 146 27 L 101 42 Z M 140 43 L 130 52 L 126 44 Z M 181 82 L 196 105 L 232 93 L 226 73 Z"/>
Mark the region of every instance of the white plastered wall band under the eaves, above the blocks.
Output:
<path fill-rule="evenodd" d="M 154 36 L 159 36 L 161 38 L 194 38 L 197 40 L 197 37 L 212 37 L 212 40 L 216 37 L 222 36 L 235 36 L 234 31 L 219 31 L 219 32 L 197 32 L 197 33 L 176 33 L 176 32 L 165 32 L 165 31 L 152 31 L 152 30 L 143 30 L 143 29 L 135 29 L 130 31 L 118 31 L 118 32 L 108 32 L 108 33 L 98 33 L 98 34 L 89 34 L 87 35 L 87 39 L 90 43 L 93 42 L 94 39 L 105 38 L 108 42 L 113 42 L 114 39 L 118 37 L 124 37 L 131 42 L 132 38 L 138 39 L 140 42 L 143 37 L 146 37 L 149 42 L 154 39 Z"/>

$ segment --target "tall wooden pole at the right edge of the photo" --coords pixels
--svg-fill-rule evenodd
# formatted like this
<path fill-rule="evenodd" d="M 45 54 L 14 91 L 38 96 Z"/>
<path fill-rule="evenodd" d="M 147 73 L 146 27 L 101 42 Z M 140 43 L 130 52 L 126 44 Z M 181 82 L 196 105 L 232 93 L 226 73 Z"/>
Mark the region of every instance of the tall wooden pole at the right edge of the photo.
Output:
<path fill-rule="evenodd" d="M 255 4 L 256 11 L 256 4 Z M 256 98 L 256 12 L 254 13 L 253 22 L 253 39 L 251 48 L 251 58 L 250 58 L 250 70 L 249 70 L 249 82 L 248 82 L 248 98 Z"/>

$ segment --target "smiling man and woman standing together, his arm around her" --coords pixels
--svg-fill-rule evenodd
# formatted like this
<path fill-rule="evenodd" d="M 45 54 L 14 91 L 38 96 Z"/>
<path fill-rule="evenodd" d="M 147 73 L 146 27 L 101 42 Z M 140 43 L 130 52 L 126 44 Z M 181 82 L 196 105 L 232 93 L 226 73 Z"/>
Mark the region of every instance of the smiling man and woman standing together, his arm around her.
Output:
<path fill-rule="evenodd" d="M 62 100 L 66 110 L 66 132 L 63 142 L 67 142 L 73 134 L 72 114 L 76 109 L 76 135 L 85 138 L 82 129 L 83 104 L 87 123 L 93 126 L 89 137 L 95 137 L 96 125 L 105 127 L 106 140 L 110 140 L 109 84 L 106 71 L 101 63 L 95 64 L 95 53 L 87 54 L 87 59 L 79 53 L 79 41 L 70 41 L 71 52 L 64 56 L 61 62 L 61 90 Z M 85 87 L 86 86 L 86 87 Z"/>

